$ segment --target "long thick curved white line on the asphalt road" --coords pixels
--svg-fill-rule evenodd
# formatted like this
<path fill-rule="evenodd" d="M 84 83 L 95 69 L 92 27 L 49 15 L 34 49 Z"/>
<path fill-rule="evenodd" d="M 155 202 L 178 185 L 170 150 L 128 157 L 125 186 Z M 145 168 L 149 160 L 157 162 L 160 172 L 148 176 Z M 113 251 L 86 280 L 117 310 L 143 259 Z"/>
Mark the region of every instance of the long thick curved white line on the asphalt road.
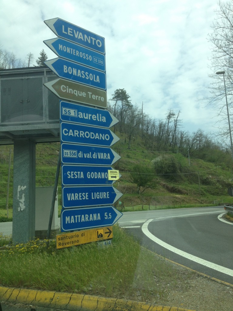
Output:
<path fill-rule="evenodd" d="M 228 269 L 228 268 L 225 268 L 225 267 L 222 267 L 222 266 L 219 266 L 215 263 L 212 263 L 212 262 L 209 262 L 207 260 L 204 260 L 202 258 L 199 258 L 199 257 L 196 257 L 196 256 L 193 256 L 189 253 L 186 253 L 174 246 L 171 246 L 165 242 L 163 242 L 162 240 L 156 238 L 156 236 L 154 236 L 152 233 L 150 233 L 150 231 L 148 230 L 148 224 L 152 221 L 153 219 L 149 219 L 147 220 L 143 225 L 142 225 L 142 232 L 149 238 L 151 239 L 152 241 L 154 241 L 155 243 L 161 245 L 162 247 L 164 248 L 167 248 L 168 250 L 170 250 L 171 252 L 173 253 L 176 253 L 184 258 L 187 258 L 189 260 L 192 260 L 194 262 L 197 262 L 203 266 L 206 266 L 208 268 L 211 268 L 211 269 L 214 269 L 218 272 L 222 272 L 222 273 L 225 273 L 229 276 L 233 276 L 233 270 L 231 269 Z"/>

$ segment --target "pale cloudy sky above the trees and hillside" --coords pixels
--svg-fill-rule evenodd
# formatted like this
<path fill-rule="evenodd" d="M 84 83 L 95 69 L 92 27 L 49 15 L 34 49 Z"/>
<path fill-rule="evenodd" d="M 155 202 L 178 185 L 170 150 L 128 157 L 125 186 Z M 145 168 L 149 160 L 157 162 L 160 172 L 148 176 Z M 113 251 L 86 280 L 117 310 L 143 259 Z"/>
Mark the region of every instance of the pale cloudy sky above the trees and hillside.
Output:
<path fill-rule="evenodd" d="M 107 98 L 124 88 L 151 118 L 180 110 L 183 128 L 216 131 L 208 97 L 208 33 L 217 0 L 0 0 L 0 45 L 24 59 L 57 56 L 43 43 L 56 35 L 44 20 L 59 17 L 105 38 Z M 34 62 L 35 63 L 35 62 Z"/>

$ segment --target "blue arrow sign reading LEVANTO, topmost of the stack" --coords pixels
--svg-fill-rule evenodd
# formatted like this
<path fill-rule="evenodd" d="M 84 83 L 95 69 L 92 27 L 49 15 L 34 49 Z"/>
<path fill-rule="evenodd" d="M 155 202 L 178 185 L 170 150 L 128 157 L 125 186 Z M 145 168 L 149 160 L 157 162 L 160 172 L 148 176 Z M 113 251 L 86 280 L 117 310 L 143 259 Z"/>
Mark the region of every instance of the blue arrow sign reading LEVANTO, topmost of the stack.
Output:
<path fill-rule="evenodd" d="M 53 18 L 44 22 L 58 37 L 105 54 L 105 42 L 103 37 L 60 18 Z"/>

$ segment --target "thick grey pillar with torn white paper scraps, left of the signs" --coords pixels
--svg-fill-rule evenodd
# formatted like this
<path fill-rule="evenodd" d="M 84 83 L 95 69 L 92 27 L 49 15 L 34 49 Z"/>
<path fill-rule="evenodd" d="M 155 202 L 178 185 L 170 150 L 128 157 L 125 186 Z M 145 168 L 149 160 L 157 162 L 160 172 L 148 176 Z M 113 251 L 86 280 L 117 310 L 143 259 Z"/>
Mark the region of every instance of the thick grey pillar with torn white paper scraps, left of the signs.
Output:
<path fill-rule="evenodd" d="M 14 244 L 35 237 L 35 143 L 14 142 L 13 224 Z"/>

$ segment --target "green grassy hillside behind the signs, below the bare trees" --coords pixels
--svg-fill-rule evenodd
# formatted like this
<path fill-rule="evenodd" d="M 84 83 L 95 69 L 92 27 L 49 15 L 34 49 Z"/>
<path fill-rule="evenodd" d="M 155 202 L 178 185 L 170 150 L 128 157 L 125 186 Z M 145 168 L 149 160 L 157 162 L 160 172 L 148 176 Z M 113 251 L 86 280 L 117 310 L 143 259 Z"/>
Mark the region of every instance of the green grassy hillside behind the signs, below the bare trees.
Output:
<path fill-rule="evenodd" d="M 231 170 L 226 163 L 215 164 L 186 156 L 179 152 L 150 152 L 143 145 L 140 137 L 135 137 L 131 142 L 131 149 L 127 149 L 128 141 L 125 134 L 116 132 L 120 137 L 112 149 L 121 159 L 113 165 L 119 169 L 122 177 L 114 187 L 123 193 L 121 201 L 126 207 L 181 207 L 188 204 L 211 204 L 215 200 L 223 203 L 233 203 L 232 197 L 227 194 L 227 189 L 232 185 Z M 53 186 L 57 168 L 59 143 L 43 143 L 36 145 L 36 186 Z M 13 191 L 13 145 L 0 146 L 0 209 L 6 208 L 7 177 L 9 164 L 9 151 L 11 148 L 11 174 L 9 191 L 9 208 L 12 208 Z M 178 174 L 168 174 L 169 167 L 165 166 L 166 174 L 158 174 L 154 162 L 172 157 L 179 165 Z M 135 165 L 148 168 L 156 181 L 156 188 L 148 188 L 139 193 L 138 187 L 131 180 L 131 172 Z M 163 172 L 164 173 L 164 172 Z M 61 180 L 59 180 L 59 204 L 61 204 Z M 223 201 L 223 203 L 222 203 Z"/>

